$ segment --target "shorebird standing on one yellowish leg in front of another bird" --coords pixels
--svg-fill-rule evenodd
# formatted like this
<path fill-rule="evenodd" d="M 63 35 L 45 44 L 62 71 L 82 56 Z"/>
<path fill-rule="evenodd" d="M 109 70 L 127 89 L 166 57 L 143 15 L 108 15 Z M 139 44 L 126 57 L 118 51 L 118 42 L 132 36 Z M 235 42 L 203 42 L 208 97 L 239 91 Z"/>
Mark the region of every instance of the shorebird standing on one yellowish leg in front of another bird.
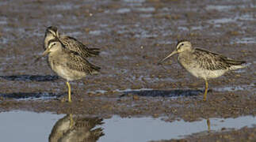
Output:
<path fill-rule="evenodd" d="M 77 52 L 68 50 L 58 38 L 48 41 L 43 56 L 48 54 L 48 64 L 52 70 L 66 79 L 68 102 L 71 103 L 71 85 L 69 81 L 80 80 L 87 75 L 99 73 L 100 67 L 91 64 Z"/>

